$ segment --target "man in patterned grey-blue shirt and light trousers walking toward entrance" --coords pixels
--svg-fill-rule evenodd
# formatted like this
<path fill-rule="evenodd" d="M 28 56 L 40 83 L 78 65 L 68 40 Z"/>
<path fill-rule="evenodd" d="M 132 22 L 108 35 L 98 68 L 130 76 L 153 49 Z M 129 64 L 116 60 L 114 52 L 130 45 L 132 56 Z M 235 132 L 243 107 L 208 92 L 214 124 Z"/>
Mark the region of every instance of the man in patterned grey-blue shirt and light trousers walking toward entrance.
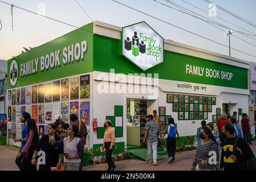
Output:
<path fill-rule="evenodd" d="M 157 165 L 157 143 L 158 143 L 158 135 L 162 138 L 159 125 L 157 122 L 153 121 L 153 115 L 148 115 L 147 118 L 149 121 L 145 125 L 145 133 L 143 142 L 145 143 L 147 138 L 147 146 L 148 146 L 148 159 L 146 162 L 151 162 L 151 154 L 153 150 L 153 164 Z"/>

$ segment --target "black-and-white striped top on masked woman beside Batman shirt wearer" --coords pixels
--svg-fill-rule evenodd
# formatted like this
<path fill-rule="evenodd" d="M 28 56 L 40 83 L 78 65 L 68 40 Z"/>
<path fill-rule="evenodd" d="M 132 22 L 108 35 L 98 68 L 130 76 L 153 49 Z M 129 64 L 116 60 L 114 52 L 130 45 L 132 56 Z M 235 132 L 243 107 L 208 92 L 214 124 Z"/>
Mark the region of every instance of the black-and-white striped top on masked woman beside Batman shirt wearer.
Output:
<path fill-rule="evenodd" d="M 194 156 L 192 166 L 196 167 L 198 164 L 200 169 L 214 169 L 220 159 L 218 146 L 213 140 L 209 140 L 206 143 L 202 142 L 203 140 L 197 144 L 196 156 Z M 207 166 L 201 166 L 202 160 L 206 160 Z"/>

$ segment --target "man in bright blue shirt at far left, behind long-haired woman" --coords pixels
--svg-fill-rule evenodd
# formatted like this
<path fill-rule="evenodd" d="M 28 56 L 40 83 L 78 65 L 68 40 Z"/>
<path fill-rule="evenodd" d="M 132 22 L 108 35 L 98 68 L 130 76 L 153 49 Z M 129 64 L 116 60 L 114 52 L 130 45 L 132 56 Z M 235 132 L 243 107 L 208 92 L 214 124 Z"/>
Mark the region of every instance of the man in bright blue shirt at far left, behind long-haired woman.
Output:
<path fill-rule="evenodd" d="M 27 125 L 26 125 L 26 122 L 27 122 L 27 119 L 31 119 L 31 115 L 27 112 L 23 112 L 22 115 L 21 115 L 21 122 L 24 123 L 23 125 L 23 130 L 22 130 L 22 134 L 21 134 L 21 139 L 14 139 L 14 142 L 21 142 L 21 149 L 20 151 L 22 150 L 22 148 L 25 146 L 26 144 L 26 140 L 27 140 Z M 22 159 L 23 159 L 23 156 L 21 155 L 21 157 L 18 159 L 16 158 L 15 160 L 15 163 L 17 164 L 17 166 L 19 167 L 19 169 L 22 171 Z"/>

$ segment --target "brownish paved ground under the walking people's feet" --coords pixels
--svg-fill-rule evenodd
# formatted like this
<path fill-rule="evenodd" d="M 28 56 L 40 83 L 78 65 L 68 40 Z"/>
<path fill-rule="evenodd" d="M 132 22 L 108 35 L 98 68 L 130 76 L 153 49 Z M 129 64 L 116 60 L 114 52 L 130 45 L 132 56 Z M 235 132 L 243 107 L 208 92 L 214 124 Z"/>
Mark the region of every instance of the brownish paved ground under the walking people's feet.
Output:
<path fill-rule="evenodd" d="M 250 147 L 256 156 L 256 142 L 253 141 L 253 143 Z M 18 151 L 18 148 L 12 146 L 0 146 L 0 171 L 18 170 L 15 164 Z M 157 166 L 153 166 L 152 163 L 149 164 L 139 159 L 122 160 L 116 162 L 116 171 L 189 171 L 195 152 L 195 150 L 177 152 L 176 164 L 168 164 L 167 156 L 164 156 L 166 159 L 159 160 Z M 105 169 L 107 169 L 107 163 L 83 167 L 83 171 L 104 171 Z"/>

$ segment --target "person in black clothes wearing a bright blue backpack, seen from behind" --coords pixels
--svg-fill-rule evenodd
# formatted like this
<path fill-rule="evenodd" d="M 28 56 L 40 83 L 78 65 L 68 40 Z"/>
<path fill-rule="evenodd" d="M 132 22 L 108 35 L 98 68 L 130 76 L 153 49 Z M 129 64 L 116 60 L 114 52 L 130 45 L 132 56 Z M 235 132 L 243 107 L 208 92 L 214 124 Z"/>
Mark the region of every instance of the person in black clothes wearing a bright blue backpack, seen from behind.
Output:
<path fill-rule="evenodd" d="M 178 135 L 178 130 L 174 125 L 173 118 L 168 119 L 168 126 L 165 127 L 165 132 L 164 135 L 162 135 L 162 139 L 164 139 L 166 133 L 168 133 L 168 138 L 166 141 L 166 150 L 169 157 L 168 163 L 175 164 L 176 134 L 178 136 L 178 140 L 180 140 L 180 136 Z"/>

